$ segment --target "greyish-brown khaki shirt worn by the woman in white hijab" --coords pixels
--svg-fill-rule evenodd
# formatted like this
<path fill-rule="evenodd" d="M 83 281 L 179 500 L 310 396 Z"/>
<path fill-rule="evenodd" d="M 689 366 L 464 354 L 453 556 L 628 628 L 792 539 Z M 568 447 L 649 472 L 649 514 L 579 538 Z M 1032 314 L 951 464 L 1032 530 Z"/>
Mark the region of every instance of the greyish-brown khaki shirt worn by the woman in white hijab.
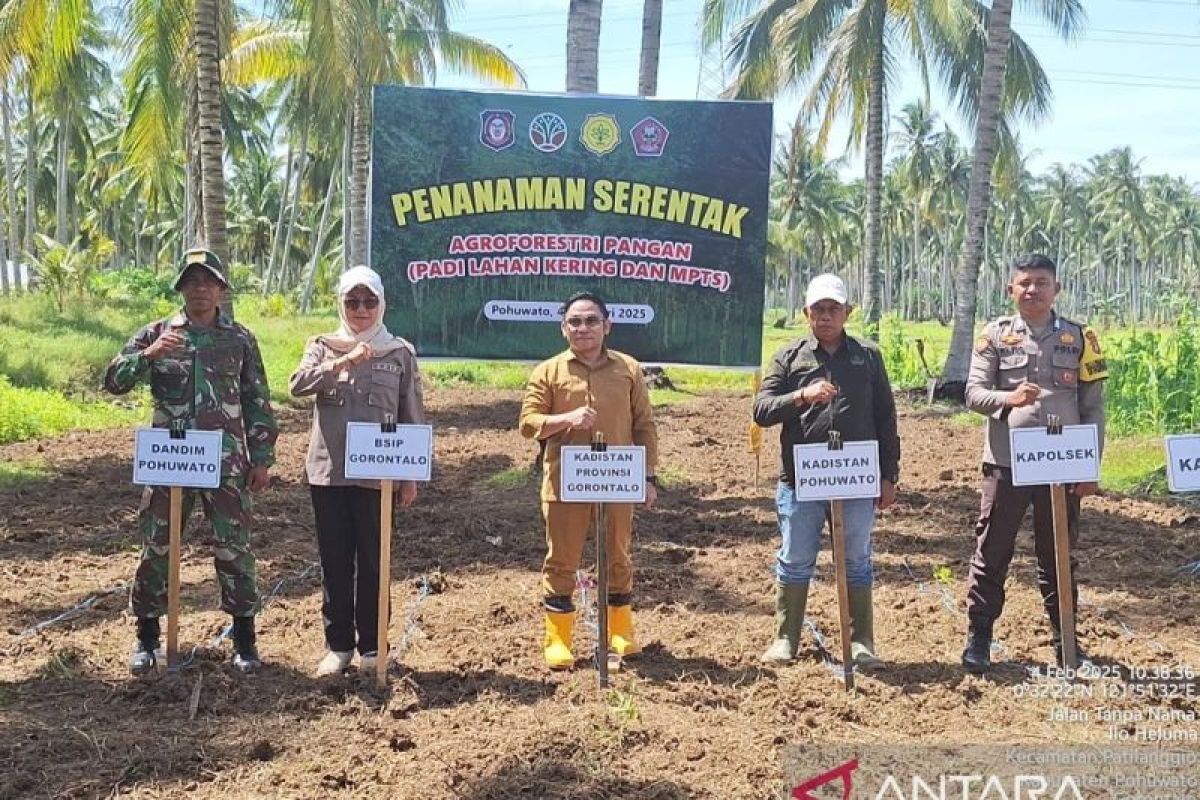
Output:
<path fill-rule="evenodd" d="M 344 372 L 334 372 L 342 354 L 317 336 L 308 339 L 288 387 L 293 397 L 317 396 L 305 473 L 313 486 L 379 488 L 379 481 L 346 477 L 346 423 L 425 425 L 425 398 L 416 355 L 402 347 Z"/>

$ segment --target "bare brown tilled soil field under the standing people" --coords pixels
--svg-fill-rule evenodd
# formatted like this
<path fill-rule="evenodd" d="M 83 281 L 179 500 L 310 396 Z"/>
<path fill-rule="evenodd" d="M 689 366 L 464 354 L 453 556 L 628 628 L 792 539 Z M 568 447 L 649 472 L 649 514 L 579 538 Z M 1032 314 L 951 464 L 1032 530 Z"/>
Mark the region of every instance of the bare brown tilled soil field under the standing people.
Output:
<path fill-rule="evenodd" d="M 1061 699 L 1028 670 L 1054 658 L 1022 535 L 997 624 L 1001 662 L 959 667 L 964 577 L 978 513 L 979 431 L 905 408 L 896 506 L 875 533 L 876 640 L 888 667 L 840 680 L 806 634 L 802 657 L 766 668 L 772 637 L 775 431 L 760 486 L 746 446 L 749 397 L 697 396 L 658 410 L 660 505 L 637 518 L 636 621 L 644 654 L 596 686 L 581 658 L 540 657 L 538 487 L 490 480 L 529 464 L 518 392 L 434 389 L 434 480 L 397 513 L 388 691 L 367 675 L 318 680 L 319 570 L 302 480 L 308 417 L 283 414 L 276 481 L 256 505 L 266 667 L 244 678 L 214 642 L 211 552 L 185 533 L 178 673 L 134 679 L 122 583 L 139 542 L 128 431 L 0 447 L 50 476 L 0 489 L 0 796 L 17 798 L 768 798 L 785 747 L 803 742 L 1102 744 L 1108 723 L 1056 708 L 1146 703 L 1200 716 L 1194 699 Z M 1200 668 L 1200 558 L 1186 505 L 1085 503 L 1080 633 L 1102 664 Z M 935 572 L 950 579 L 938 581 Z M 809 615 L 840 652 L 828 548 Z M 424 588 L 424 589 L 422 589 Z M 74 619 L 30 626 L 114 589 Z M 576 654 L 588 652 L 586 632 Z M 1118 726 L 1120 727 L 1120 726 Z M 1187 728 L 1187 726 L 1177 726 Z M 1198 726 L 1193 724 L 1194 730 Z M 1133 734 L 1133 726 L 1127 726 Z M 1187 744 L 1195 748 L 1200 745 Z"/>

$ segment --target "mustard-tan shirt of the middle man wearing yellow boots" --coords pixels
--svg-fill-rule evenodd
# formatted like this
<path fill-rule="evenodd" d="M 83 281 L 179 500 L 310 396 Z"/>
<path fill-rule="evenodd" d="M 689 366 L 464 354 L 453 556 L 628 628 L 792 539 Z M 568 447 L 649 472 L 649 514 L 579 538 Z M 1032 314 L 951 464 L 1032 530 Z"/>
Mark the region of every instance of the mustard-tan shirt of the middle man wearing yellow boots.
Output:
<path fill-rule="evenodd" d="M 659 437 L 650 410 L 650 393 L 642 367 L 624 353 L 605 349 L 598 367 L 588 367 L 570 350 L 534 367 L 521 403 L 521 435 L 545 443 L 541 499 L 558 500 L 559 451 L 563 445 L 592 444 L 600 431 L 610 445 L 646 447 L 646 474 L 654 475 L 659 462 Z M 559 431 L 547 437 L 546 417 L 584 405 L 596 410 L 594 431 Z"/>

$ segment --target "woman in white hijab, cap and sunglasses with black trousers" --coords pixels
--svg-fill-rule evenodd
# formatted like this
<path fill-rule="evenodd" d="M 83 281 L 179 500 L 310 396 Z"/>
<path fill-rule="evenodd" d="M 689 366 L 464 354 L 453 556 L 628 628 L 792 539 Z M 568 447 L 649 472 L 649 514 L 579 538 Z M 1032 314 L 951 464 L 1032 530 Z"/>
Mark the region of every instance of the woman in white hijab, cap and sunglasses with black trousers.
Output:
<path fill-rule="evenodd" d="M 379 597 L 379 482 L 347 479 L 346 423 L 424 425 L 416 351 L 383 324 L 383 281 L 366 266 L 342 273 L 337 313 L 342 324 L 313 337 L 289 387 L 294 397 L 317 396 L 305 471 L 312 493 L 320 551 L 329 652 L 318 675 L 349 667 L 374 669 Z M 416 499 L 416 483 L 401 481 L 402 506 Z"/>

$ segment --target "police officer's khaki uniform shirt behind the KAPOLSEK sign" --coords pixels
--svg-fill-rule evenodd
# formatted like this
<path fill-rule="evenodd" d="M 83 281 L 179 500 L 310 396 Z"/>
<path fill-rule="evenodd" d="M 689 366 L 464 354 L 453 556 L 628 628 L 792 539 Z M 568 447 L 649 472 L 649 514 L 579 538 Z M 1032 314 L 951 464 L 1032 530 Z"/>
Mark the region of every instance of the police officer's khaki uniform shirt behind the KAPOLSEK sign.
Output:
<path fill-rule="evenodd" d="M 971 355 L 967 407 L 988 416 L 983 444 L 985 464 L 1012 467 L 1009 428 L 1046 425 L 1058 415 L 1063 425 L 1096 425 L 1104 450 L 1104 378 L 1096 333 L 1054 314 L 1042 336 L 1019 315 L 1001 317 L 984 327 Z M 1004 405 L 1022 380 L 1042 387 L 1037 402 L 1024 408 Z"/>

